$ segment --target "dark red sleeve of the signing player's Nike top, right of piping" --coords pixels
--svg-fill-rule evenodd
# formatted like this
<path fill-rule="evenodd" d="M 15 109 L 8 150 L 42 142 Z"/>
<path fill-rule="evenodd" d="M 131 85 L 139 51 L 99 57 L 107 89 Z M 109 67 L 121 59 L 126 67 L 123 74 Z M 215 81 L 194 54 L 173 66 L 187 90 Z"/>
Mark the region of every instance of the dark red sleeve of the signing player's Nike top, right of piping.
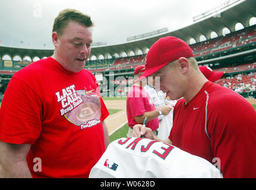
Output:
<path fill-rule="evenodd" d="M 221 96 L 221 95 L 220 95 Z M 211 103 L 211 102 L 210 102 Z M 229 96 L 211 104 L 208 133 L 224 178 L 256 177 L 256 112 L 249 103 Z"/>

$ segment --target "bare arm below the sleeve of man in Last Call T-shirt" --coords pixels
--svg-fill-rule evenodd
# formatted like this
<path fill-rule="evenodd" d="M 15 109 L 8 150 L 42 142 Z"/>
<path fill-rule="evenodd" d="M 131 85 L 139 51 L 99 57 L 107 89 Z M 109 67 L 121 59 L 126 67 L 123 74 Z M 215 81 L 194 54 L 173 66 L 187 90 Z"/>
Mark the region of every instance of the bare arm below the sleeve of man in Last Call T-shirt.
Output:
<path fill-rule="evenodd" d="M 30 147 L 0 141 L 0 178 L 32 178 L 26 160 Z"/>

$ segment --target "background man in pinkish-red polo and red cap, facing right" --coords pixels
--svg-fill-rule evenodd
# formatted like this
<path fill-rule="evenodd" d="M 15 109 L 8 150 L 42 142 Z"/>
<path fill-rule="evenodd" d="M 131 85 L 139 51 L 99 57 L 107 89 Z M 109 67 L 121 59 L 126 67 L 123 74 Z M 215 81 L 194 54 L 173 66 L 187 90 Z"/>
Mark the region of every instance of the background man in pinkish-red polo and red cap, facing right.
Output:
<path fill-rule="evenodd" d="M 140 77 L 145 69 L 144 65 L 139 65 L 134 69 L 134 78 Z M 157 135 L 156 129 L 159 127 L 158 116 L 163 114 L 167 115 L 170 107 L 165 106 L 160 109 L 156 109 L 149 94 L 143 90 L 145 83 L 138 81 L 135 82 L 127 94 L 127 119 L 129 125 L 129 131 L 127 137 L 131 137 L 132 128 L 136 124 L 143 124 L 144 119 L 147 117 L 146 126 L 152 129 L 155 135 Z"/>

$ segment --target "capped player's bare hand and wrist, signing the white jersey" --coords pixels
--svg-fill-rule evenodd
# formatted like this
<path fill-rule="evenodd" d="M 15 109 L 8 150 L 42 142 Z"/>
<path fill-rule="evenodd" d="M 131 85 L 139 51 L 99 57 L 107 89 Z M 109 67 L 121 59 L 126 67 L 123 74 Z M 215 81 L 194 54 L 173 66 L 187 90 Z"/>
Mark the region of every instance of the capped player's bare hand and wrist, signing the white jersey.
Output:
<path fill-rule="evenodd" d="M 171 140 L 169 140 L 169 138 L 167 138 L 165 140 L 161 140 L 161 139 L 157 138 L 155 135 L 153 135 L 153 132 L 150 128 L 143 127 L 143 125 L 139 125 L 139 124 L 134 125 L 132 137 L 140 137 L 141 135 L 143 135 L 144 138 L 149 138 L 154 141 L 161 141 L 163 143 L 172 144 L 172 142 L 171 142 Z"/>

